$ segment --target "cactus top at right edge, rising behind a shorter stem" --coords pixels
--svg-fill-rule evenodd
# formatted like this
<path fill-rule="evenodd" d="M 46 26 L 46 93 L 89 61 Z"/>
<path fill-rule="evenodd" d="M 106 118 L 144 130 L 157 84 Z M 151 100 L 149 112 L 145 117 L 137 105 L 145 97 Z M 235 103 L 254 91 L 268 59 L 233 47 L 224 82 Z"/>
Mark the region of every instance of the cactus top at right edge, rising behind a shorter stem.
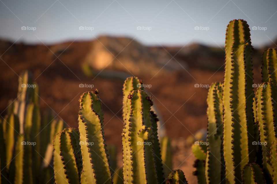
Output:
<path fill-rule="evenodd" d="M 277 49 L 267 49 L 262 56 L 262 82 L 277 84 Z"/>

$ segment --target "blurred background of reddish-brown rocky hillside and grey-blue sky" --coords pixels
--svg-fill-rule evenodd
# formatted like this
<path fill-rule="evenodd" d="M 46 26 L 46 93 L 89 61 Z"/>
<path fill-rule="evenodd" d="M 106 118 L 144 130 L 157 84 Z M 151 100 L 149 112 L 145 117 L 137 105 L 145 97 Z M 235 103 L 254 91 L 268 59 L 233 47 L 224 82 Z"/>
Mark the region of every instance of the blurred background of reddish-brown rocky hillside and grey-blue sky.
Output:
<path fill-rule="evenodd" d="M 227 24 L 249 24 L 256 84 L 263 51 L 277 46 L 274 0 L 0 0 L 0 15 L 1 117 L 23 70 L 40 87 L 41 110 L 70 127 L 78 127 L 80 95 L 97 88 L 106 141 L 117 145 L 121 166 L 122 85 L 138 76 L 153 96 L 161 136 L 171 138 L 173 168 L 189 183 L 196 183 L 190 145 L 205 137 L 208 87 L 223 82 Z"/>

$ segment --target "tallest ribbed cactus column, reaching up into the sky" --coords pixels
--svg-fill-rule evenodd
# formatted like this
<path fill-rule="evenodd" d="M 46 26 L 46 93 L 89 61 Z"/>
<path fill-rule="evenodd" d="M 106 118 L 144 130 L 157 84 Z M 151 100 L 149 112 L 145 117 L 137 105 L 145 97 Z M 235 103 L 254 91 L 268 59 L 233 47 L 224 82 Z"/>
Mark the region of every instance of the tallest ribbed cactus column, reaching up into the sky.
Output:
<path fill-rule="evenodd" d="M 246 21 L 230 21 L 226 29 L 224 159 L 226 183 L 242 181 L 241 170 L 254 160 L 252 46 Z"/>

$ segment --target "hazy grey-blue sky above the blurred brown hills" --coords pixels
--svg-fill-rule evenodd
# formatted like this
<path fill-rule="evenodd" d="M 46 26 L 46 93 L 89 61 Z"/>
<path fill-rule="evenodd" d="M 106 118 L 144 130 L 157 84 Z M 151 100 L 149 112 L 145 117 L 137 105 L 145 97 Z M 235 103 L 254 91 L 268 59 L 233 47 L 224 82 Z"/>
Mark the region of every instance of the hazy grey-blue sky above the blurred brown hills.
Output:
<path fill-rule="evenodd" d="M 223 46 L 227 24 L 239 18 L 248 22 L 255 47 L 277 38 L 276 0 L 0 0 L 0 17 L 0 38 L 25 43 L 108 34 L 147 45 Z"/>

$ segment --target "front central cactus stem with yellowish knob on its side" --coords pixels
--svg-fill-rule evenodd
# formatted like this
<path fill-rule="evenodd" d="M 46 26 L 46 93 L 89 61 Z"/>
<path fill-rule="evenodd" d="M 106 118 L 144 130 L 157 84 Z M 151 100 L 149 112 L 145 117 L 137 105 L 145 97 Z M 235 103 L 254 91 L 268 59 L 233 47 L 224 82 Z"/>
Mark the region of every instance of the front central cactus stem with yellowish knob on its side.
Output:
<path fill-rule="evenodd" d="M 151 136 L 152 105 L 152 98 L 141 90 L 132 91 L 127 97 L 127 116 L 122 132 L 123 150 L 126 149 L 123 151 L 123 176 L 127 183 L 158 183 L 154 137 Z"/>

